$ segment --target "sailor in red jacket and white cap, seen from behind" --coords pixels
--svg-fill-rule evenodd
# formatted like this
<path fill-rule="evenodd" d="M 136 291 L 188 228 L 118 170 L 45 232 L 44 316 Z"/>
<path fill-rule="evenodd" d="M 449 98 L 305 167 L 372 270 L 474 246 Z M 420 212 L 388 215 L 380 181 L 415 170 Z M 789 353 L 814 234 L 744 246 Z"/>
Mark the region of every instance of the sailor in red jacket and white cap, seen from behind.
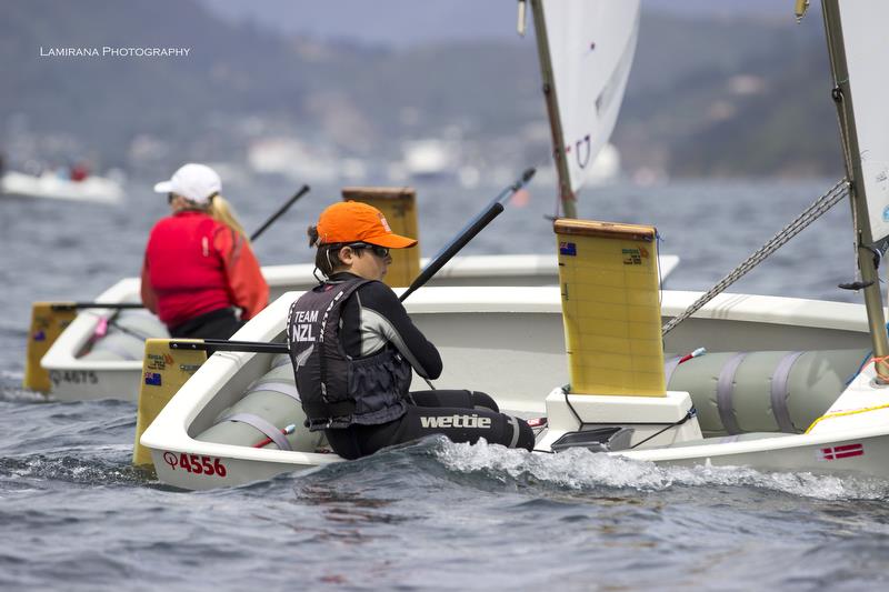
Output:
<path fill-rule="evenodd" d="M 189 163 L 169 181 L 171 215 L 151 229 L 142 302 L 174 338 L 228 339 L 269 300 L 269 287 L 211 168 Z M 240 309 L 240 320 L 234 307 Z"/>

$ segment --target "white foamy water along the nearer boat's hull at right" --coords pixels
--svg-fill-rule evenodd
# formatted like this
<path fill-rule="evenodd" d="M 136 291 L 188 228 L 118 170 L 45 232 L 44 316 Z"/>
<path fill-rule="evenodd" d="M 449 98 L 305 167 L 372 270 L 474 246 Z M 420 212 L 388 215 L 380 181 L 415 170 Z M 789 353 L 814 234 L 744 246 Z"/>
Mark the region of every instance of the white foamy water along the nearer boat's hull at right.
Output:
<path fill-rule="evenodd" d="M 878 479 L 761 472 L 745 466 L 656 465 L 581 448 L 559 454 L 529 453 L 488 444 L 485 440 L 473 445 L 444 441 L 436 451 L 442 464 L 452 471 L 483 472 L 502 481 L 531 480 L 571 490 L 605 486 L 662 491 L 679 485 L 735 485 L 822 500 L 889 499 L 889 482 Z"/>

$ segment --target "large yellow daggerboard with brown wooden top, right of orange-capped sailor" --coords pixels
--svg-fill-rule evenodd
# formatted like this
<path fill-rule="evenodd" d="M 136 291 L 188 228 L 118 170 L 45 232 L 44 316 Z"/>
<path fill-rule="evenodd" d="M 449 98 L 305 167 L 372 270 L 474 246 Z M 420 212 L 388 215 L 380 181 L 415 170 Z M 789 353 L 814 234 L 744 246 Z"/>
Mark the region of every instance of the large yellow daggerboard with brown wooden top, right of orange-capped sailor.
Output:
<path fill-rule="evenodd" d="M 553 231 L 571 392 L 663 397 L 656 229 L 558 219 Z"/>

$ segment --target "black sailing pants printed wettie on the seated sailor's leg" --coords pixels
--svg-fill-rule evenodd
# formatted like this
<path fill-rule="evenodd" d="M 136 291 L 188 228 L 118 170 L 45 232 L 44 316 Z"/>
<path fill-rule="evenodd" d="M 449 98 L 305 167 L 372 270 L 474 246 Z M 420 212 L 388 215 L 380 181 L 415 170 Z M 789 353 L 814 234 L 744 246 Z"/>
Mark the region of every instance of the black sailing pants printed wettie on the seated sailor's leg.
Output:
<path fill-rule="evenodd" d="M 500 413 L 495 400 L 483 392 L 416 391 L 407 399 L 407 412 L 394 421 L 324 430 L 330 448 L 351 460 L 430 434 L 443 434 L 453 442 L 476 443 L 485 438 L 509 448 L 535 446 L 528 423 Z"/>

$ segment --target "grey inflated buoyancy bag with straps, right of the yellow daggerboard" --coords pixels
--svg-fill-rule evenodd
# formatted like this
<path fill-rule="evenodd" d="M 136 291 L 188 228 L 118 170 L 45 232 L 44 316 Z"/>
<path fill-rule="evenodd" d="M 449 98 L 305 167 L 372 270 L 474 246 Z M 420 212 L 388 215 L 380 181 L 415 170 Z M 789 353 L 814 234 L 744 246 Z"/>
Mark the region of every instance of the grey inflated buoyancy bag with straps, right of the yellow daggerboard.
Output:
<path fill-rule="evenodd" d="M 676 365 L 667 388 L 691 394 L 705 435 L 803 432 L 837 400 L 867 350 L 717 352 Z"/>

